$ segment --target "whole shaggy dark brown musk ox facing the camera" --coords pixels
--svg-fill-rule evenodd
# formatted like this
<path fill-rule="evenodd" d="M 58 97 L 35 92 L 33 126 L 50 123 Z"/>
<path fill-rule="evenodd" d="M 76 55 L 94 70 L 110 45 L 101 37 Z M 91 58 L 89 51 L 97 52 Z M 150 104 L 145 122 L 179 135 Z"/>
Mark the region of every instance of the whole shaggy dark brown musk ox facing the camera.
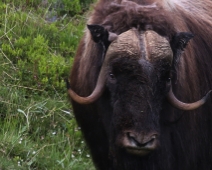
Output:
<path fill-rule="evenodd" d="M 96 169 L 211 170 L 212 1 L 99 0 L 67 87 Z"/>

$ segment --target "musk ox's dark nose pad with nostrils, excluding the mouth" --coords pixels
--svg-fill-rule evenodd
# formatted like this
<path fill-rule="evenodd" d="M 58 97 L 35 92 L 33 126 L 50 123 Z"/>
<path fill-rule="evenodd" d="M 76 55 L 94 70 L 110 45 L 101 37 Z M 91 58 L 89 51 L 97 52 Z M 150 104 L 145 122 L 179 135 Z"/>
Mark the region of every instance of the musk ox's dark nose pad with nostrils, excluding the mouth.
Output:
<path fill-rule="evenodd" d="M 142 135 L 128 132 L 126 136 L 131 146 L 148 149 L 154 149 L 158 140 L 158 134 Z"/>

